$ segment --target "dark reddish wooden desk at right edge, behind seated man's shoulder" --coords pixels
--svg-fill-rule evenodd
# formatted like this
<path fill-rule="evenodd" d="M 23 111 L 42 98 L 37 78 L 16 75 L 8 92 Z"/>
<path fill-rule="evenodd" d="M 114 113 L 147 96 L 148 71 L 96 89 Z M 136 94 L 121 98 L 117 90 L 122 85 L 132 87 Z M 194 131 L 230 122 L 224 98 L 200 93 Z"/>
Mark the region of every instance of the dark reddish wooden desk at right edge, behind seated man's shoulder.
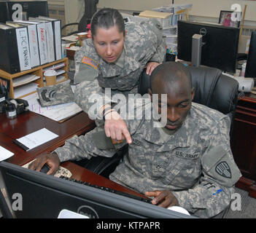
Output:
<path fill-rule="evenodd" d="M 256 198 L 256 95 L 252 93 L 238 99 L 230 146 L 243 175 L 236 186 Z"/>

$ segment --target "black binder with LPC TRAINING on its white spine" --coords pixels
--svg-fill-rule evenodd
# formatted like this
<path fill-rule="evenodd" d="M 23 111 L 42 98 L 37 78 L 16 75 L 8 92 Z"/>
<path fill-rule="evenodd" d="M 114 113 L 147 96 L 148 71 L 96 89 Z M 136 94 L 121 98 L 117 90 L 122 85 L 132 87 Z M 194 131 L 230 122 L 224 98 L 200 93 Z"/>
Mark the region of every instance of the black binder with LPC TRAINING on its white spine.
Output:
<path fill-rule="evenodd" d="M 0 23 L 0 68 L 9 74 L 31 69 L 26 27 L 15 28 Z"/>

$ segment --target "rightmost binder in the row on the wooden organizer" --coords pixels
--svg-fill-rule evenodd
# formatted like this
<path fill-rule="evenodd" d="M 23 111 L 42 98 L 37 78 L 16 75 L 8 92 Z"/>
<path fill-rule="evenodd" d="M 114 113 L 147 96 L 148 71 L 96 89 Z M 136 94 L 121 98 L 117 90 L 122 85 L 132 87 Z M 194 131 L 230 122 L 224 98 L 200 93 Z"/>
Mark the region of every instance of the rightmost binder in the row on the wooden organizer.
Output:
<path fill-rule="evenodd" d="M 61 20 L 53 19 L 50 17 L 39 16 L 39 19 L 48 20 L 53 23 L 53 36 L 55 41 L 55 60 L 60 60 L 61 55 Z"/>

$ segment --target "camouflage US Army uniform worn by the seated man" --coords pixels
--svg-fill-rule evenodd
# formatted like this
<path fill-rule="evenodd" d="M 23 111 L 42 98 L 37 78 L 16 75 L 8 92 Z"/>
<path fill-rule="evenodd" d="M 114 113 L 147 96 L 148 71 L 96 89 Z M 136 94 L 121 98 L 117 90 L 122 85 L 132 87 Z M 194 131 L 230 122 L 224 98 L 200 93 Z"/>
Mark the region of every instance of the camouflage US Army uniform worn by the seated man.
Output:
<path fill-rule="evenodd" d="M 230 151 L 228 116 L 193 103 L 182 127 L 173 134 L 152 127 L 153 119 L 126 122 L 133 143 L 110 175 L 112 181 L 141 193 L 169 189 L 181 207 L 201 218 L 215 216 L 229 205 L 241 173 Z M 112 157 L 117 148 L 100 148 L 94 137 L 100 131 L 104 129 L 96 127 L 66 141 L 55 151 L 61 162 Z"/>

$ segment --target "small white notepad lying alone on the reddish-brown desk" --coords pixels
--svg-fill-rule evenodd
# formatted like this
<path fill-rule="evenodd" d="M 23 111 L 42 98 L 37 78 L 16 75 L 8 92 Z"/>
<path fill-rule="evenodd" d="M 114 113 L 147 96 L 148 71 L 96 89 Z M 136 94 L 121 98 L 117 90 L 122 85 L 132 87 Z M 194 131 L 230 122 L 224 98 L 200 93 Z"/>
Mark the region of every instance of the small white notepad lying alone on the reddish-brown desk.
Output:
<path fill-rule="evenodd" d="M 24 146 L 28 147 L 29 150 L 34 149 L 36 146 L 40 146 L 43 143 L 47 143 L 47 141 L 51 141 L 54 138 L 57 138 L 58 135 L 47 130 L 46 128 L 42 128 L 42 130 L 37 130 L 34 133 L 30 133 L 22 138 L 16 139 Z"/>

